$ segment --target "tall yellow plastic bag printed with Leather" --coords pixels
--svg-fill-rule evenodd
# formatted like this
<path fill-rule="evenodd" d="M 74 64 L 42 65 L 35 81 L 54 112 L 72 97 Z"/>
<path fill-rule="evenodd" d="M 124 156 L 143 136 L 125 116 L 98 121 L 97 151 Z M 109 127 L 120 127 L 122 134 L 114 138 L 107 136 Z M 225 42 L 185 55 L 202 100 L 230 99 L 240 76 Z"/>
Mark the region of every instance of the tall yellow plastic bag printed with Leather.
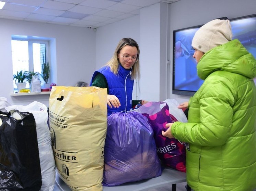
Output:
<path fill-rule="evenodd" d="M 74 191 L 102 191 L 107 89 L 53 86 L 49 118 L 61 179 Z"/>

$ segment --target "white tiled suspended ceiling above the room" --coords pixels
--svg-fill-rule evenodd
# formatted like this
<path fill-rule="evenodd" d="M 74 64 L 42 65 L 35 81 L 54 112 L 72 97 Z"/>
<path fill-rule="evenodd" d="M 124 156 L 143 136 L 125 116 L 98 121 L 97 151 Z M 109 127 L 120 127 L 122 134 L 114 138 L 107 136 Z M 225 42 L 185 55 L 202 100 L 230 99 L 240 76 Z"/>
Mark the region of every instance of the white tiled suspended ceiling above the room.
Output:
<path fill-rule="evenodd" d="M 138 15 L 158 2 L 179 0 L 0 0 L 0 18 L 97 28 Z"/>

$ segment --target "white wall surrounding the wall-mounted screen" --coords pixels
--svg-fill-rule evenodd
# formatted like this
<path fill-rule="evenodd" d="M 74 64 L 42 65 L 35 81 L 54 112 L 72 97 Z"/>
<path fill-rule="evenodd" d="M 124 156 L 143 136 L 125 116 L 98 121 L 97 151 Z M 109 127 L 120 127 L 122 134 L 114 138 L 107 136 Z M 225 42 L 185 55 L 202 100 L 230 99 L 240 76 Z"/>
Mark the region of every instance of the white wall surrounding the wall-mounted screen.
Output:
<path fill-rule="evenodd" d="M 171 28 L 171 57 L 173 30 L 205 24 L 212 19 L 220 17 L 236 18 L 255 14 L 255 0 L 181 0 L 170 4 L 170 28 Z M 172 62 L 171 62 L 172 63 Z M 167 92 L 170 98 L 176 99 L 179 103 L 189 99 L 188 96 L 173 95 L 172 92 L 172 67 L 170 68 Z"/>

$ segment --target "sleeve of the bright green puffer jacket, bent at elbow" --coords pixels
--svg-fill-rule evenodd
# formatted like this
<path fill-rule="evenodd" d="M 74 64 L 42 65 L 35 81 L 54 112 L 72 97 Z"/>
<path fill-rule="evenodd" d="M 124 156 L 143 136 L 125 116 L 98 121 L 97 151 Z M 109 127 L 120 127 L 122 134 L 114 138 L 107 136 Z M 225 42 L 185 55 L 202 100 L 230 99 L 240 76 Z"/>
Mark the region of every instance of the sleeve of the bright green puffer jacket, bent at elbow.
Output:
<path fill-rule="evenodd" d="M 232 87 L 227 79 L 214 76 L 205 81 L 189 101 L 188 123 L 175 122 L 173 136 L 198 146 L 223 145 L 232 126 Z"/>

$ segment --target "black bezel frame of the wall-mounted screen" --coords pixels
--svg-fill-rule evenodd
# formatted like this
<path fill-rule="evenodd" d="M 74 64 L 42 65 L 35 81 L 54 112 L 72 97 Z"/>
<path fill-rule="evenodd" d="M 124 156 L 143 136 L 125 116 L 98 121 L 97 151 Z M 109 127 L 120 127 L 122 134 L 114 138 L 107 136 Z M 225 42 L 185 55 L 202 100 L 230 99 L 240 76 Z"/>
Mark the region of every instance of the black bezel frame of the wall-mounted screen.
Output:
<path fill-rule="evenodd" d="M 232 21 L 236 21 L 236 20 L 239 20 L 239 19 L 246 19 L 246 18 L 251 18 L 251 17 L 256 17 L 256 14 L 242 16 L 242 17 L 236 17 L 236 18 L 232 18 L 232 19 L 229 19 L 229 20 L 232 22 Z M 175 43 L 176 43 L 175 34 L 178 31 L 187 30 L 187 29 L 194 29 L 194 28 L 200 28 L 201 26 L 203 26 L 203 25 L 197 25 L 197 26 L 192 26 L 192 27 L 186 27 L 186 28 L 182 28 L 182 29 L 173 30 L 172 94 L 184 95 L 184 96 L 193 96 L 196 93 L 196 91 L 175 89 Z"/>

